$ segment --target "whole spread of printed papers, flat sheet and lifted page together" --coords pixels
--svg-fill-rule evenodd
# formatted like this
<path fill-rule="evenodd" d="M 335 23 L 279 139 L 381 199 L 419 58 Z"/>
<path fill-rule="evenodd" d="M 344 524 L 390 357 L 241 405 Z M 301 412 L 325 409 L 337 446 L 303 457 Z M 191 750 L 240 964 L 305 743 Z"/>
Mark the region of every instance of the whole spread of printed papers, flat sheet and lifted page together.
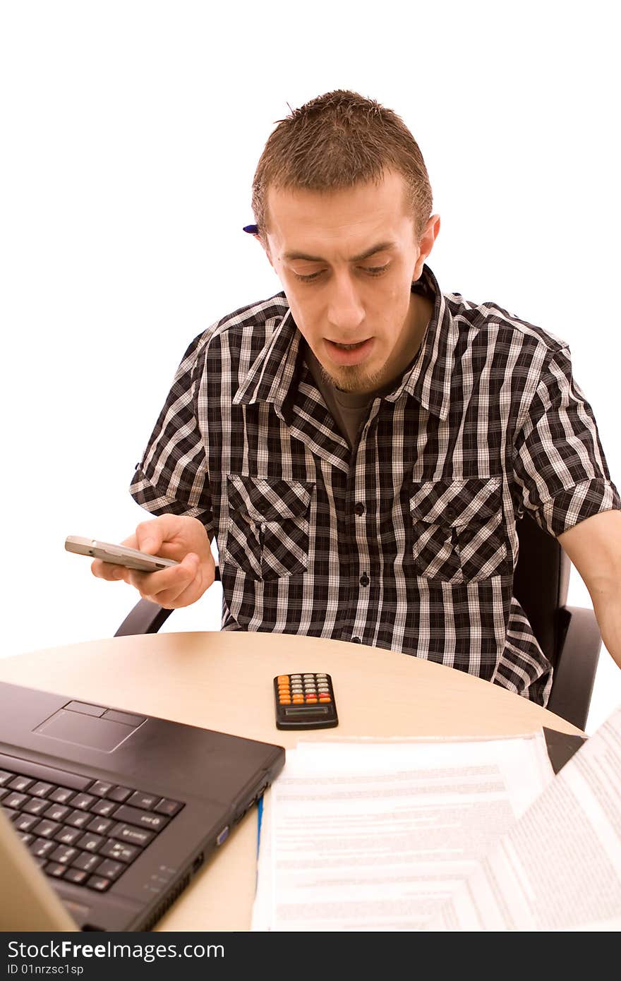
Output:
<path fill-rule="evenodd" d="M 621 707 L 557 776 L 543 733 L 287 751 L 253 929 L 620 926 Z"/>

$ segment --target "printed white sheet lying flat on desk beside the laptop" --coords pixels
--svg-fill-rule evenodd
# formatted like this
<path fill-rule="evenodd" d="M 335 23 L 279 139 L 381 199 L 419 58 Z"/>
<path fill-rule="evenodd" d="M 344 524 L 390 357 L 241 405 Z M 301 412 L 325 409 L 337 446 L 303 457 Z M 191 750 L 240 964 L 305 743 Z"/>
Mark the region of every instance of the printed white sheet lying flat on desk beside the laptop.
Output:
<path fill-rule="evenodd" d="M 264 808 L 252 929 L 422 929 L 552 778 L 542 733 L 298 744 Z"/>

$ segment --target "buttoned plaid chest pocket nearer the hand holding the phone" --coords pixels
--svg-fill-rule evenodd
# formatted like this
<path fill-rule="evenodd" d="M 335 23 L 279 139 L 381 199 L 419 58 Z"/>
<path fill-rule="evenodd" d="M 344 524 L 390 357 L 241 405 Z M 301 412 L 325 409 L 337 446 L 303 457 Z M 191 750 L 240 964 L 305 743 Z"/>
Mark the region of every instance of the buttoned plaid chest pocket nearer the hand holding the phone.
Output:
<path fill-rule="evenodd" d="M 315 485 L 227 475 L 229 529 L 224 562 L 252 579 L 280 579 L 308 565 L 308 512 Z"/>

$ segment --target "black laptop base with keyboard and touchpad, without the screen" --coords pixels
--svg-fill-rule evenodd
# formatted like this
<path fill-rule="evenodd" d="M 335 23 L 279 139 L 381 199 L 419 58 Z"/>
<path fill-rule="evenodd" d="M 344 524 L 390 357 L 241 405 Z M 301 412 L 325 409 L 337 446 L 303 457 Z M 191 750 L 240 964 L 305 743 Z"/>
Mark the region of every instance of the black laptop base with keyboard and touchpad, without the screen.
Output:
<path fill-rule="evenodd" d="M 0 683 L 0 805 L 78 929 L 150 930 L 284 764 L 280 746 Z"/>

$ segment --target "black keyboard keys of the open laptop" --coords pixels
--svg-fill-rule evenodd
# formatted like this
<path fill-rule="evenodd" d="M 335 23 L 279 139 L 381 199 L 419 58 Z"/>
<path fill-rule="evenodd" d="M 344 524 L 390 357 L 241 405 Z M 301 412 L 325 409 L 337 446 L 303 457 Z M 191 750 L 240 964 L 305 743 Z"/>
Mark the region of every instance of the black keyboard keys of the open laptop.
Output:
<path fill-rule="evenodd" d="M 0 805 L 38 865 L 104 893 L 181 811 L 180 800 L 0 753 Z"/>

